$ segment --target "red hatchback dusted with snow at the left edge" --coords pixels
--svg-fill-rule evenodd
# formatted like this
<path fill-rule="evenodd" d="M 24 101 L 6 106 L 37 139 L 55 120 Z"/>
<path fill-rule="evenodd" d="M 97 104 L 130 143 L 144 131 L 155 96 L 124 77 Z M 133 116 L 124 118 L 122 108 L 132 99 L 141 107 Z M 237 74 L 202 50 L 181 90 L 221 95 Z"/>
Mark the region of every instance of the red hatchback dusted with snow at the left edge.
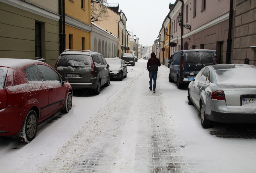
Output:
<path fill-rule="evenodd" d="M 38 123 L 72 107 L 68 79 L 37 60 L 0 58 L 0 136 L 35 138 Z"/>

